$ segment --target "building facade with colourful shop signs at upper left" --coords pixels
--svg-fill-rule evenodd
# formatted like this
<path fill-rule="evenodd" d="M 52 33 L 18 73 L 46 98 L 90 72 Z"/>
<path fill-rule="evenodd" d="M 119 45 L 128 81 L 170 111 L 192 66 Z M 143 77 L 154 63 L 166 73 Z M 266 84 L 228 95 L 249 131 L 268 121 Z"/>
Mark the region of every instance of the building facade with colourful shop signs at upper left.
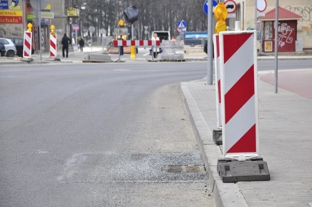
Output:
<path fill-rule="evenodd" d="M 73 0 L 40 0 L 44 8 L 39 12 L 32 0 L 0 0 L 0 37 L 23 38 L 27 24 L 32 23 L 33 45 L 36 50 L 49 50 L 50 26 L 55 26 L 58 47 L 66 33 L 72 36 L 72 18 L 78 18 L 78 9 L 73 12 Z M 41 5 L 42 6 L 42 5 Z M 72 13 L 71 13 L 72 12 Z M 70 13 L 70 15 L 68 15 Z M 51 16 L 51 18 L 49 18 Z M 40 25 L 39 25 L 40 24 Z"/>

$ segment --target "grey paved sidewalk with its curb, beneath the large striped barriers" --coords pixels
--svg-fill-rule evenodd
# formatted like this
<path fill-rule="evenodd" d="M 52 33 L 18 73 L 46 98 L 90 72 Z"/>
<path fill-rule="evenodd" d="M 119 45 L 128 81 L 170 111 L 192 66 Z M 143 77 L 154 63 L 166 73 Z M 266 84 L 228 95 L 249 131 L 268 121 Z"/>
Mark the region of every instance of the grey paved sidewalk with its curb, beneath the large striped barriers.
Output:
<path fill-rule="evenodd" d="M 287 85 L 303 73 L 305 79 L 298 81 L 302 87 L 310 86 L 311 72 L 312 68 L 288 71 L 292 74 L 281 78 L 279 84 Z M 272 81 L 270 73 L 261 75 L 261 79 Z M 200 79 L 180 86 L 216 206 L 312 207 L 312 98 L 309 93 L 299 96 L 281 88 L 274 94 L 273 85 L 258 79 L 260 155 L 271 175 L 270 181 L 261 182 L 222 182 L 216 170 L 217 159 L 223 157 L 222 146 L 215 145 L 212 138 L 216 129 L 215 85 Z M 311 88 L 309 91 L 312 94 Z"/>

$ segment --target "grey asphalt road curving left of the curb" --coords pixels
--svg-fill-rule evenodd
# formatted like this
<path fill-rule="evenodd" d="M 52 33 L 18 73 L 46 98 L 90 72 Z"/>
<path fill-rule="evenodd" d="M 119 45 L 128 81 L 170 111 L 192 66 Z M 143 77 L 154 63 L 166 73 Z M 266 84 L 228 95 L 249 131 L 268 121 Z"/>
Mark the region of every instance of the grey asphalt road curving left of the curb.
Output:
<path fill-rule="evenodd" d="M 2 67 L 0 206 L 214 206 L 179 92 L 204 65 Z"/>

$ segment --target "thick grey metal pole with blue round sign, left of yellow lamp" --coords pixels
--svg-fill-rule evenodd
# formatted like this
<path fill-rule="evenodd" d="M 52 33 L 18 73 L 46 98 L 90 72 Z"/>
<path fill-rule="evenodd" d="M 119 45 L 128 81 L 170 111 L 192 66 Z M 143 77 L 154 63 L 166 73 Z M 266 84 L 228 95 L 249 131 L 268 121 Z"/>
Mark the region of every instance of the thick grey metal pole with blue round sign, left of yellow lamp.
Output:
<path fill-rule="evenodd" d="M 213 85 L 213 0 L 208 0 L 207 84 Z M 209 11 L 210 10 L 210 11 Z"/>

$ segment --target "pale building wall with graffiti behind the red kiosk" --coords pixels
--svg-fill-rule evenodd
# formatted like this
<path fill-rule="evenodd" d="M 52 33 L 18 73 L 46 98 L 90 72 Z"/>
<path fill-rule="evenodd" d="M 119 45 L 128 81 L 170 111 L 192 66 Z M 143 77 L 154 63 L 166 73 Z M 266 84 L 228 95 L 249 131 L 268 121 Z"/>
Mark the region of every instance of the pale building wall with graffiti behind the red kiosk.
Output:
<path fill-rule="evenodd" d="M 240 21 L 240 28 L 241 30 L 249 30 L 254 29 L 255 26 L 255 0 L 234 0 L 236 3 L 236 11 L 234 17 L 228 18 L 227 23 L 230 28 L 234 28 L 235 21 Z M 260 11 L 257 10 L 257 33 L 258 33 L 258 49 L 264 52 L 265 49 L 265 21 L 266 24 L 269 25 L 272 22 L 268 22 L 265 18 L 265 15 L 269 15 L 268 13 L 275 9 L 275 0 L 257 0 Z M 288 38 L 288 42 L 292 41 L 292 44 L 297 41 L 296 46 L 302 47 L 304 49 L 312 49 L 312 1 L 311 0 L 279 0 L 278 1 L 279 7 L 292 12 L 299 16 L 299 18 L 293 19 L 279 19 L 279 38 L 282 38 L 283 34 L 287 31 L 288 27 L 285 26 L 285 21 L 296 20 L 296 22 L 292 22 L 292 31 L 295 31 L 296 34 L 291 34 L 292 37 L 295 38 Z M 275 18 L 275 16 L 274 16 Z M 270 19 L 269 19 L 270 20 Z M 272 20 L 272 19 L 271 19 Z M 288 25 L 289 26 L 289 25 Z M 268 27 L 267 27 L 268 28 Z M 290 31 L 288 31 L 290 33 Z M 288 34 L 290 35 L 290 34 Z M 274 38 L 274 36 L 273 36 Z M 297 48 L 298 49 L 298 48 Z M 289 50 L 280 50 L 280 52 L 292 52 L 295 49 Z M 298 51 L 298 50 L 296 50 Z M 269 51 L 268 51 L 269 52 Z"/>

